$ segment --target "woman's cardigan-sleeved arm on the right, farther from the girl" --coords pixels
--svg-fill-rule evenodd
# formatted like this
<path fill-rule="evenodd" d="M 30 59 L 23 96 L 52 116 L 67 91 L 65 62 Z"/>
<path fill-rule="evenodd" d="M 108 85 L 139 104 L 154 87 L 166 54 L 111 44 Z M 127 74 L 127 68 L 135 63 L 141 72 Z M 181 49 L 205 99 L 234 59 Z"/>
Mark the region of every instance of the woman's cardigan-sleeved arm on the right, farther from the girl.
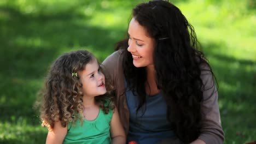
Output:
<path fill-rule="evenodd" d="M 224 132 L 220 121 L 220 112 L 218 105 L 218 92 L 214 84 L 213 75 L 206 70 L 202 71 L 201 79 L 204 85 L 203 103 L 202 103 L 202 128 L 201 134 L 196 141 L 205 143 L 223 143 Z M 195 142 L 196 142 L 195 141 Z"/>

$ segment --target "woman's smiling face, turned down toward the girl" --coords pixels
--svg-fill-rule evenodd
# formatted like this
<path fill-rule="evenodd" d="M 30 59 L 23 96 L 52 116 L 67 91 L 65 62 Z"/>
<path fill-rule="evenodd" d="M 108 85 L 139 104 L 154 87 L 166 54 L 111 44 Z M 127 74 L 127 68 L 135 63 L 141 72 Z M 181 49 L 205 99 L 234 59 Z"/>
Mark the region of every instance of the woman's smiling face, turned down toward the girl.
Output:
<path fill-rule="evenodd" d="M 155 40 L 150 38 L 146 29 L 132 18 L 128 33 L 130 35 L 127 50 L 131 52 L 135 67 L 154 66 L 153 51 Z"/>

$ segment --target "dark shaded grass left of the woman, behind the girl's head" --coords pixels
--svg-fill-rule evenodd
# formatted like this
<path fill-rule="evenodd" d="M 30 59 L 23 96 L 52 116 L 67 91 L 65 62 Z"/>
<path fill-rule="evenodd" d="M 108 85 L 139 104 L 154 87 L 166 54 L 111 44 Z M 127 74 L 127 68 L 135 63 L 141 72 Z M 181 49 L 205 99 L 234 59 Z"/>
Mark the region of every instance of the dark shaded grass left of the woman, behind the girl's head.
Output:
<path fill-rule="evenodd" d="M 124 31 L 88 25 L 88 17 L 66 13 L 30 16 L 11 8 L 0 8 L 0 121 L 25 117 L 39 124 L 32 109 L 42 79 L 54 59 L 63 52 L 89 49 L 101 61 L 113 51 Z M 122 37 L 120 37 L 122 38 Z"/>

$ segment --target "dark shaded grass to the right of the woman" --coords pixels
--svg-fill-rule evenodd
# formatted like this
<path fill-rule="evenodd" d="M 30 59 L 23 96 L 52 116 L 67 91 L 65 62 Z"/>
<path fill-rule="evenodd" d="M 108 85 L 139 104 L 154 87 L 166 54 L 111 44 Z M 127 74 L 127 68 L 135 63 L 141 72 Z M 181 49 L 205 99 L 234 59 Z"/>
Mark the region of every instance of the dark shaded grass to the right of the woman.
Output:
<path fill-rule="evenodd" d="M 217 53 L 225 44 L 210 43 L 203 47 L 219 83 L 225 143 L 252 141 L 256 134 L 256 62 Z"/>

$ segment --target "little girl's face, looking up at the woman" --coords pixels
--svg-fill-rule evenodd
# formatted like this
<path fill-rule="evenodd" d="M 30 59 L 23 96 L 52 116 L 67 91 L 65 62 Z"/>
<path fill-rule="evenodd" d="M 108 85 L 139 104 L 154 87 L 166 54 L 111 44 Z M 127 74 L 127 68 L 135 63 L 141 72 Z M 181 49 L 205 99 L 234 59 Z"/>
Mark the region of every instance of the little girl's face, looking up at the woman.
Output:
<path fill-rule="evenodd" d="M 105 76 L 101 73 L 96 58 L 85 65 L 83 71 L 79 71 L 80 81 L 83 83 L 83 94 L 86 97 L 95 97 L 105 94 Z"/>

